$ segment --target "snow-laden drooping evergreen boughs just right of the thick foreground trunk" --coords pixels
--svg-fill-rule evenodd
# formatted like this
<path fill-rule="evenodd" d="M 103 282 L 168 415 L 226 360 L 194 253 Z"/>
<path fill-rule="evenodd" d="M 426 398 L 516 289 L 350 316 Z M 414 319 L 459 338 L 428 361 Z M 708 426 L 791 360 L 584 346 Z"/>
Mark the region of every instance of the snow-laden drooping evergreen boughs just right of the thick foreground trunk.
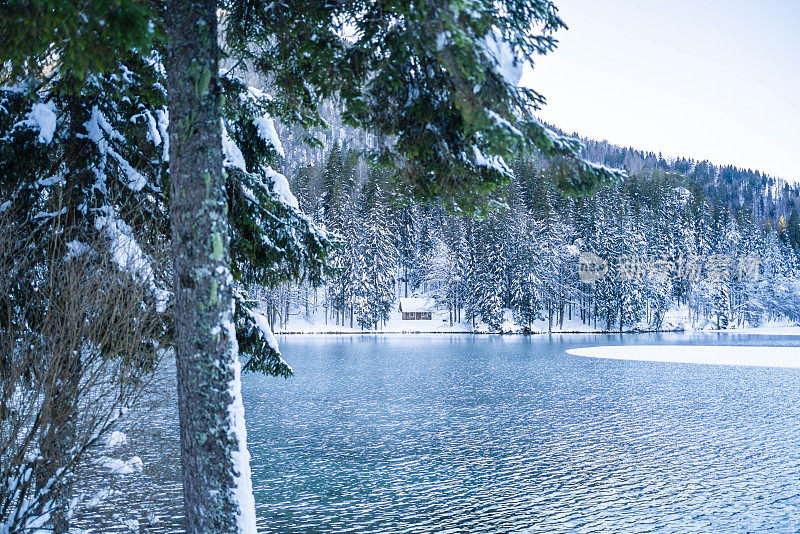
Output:
<path fill-rule="evenodd" d="M 272 97 L 233 72 L 221 84 L 237 339 L 248 356 L 243 369 L 287 376 L 291 370 L 272 343 L 267 323 L 242 298 L 243 290 L 283 282 L 321 285 L 333 273 L 327 259 L 336 241 L 300 211 L 286 177 L 274 169 L 284 151 L 272 119 Z"/>

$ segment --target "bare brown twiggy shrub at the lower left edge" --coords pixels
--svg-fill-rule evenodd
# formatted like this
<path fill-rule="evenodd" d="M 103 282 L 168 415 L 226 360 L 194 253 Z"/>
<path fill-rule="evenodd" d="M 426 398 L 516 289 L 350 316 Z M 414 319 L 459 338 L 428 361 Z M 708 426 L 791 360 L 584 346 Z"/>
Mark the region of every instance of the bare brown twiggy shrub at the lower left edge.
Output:
<path fill-rule="evenodd" d="M 135 244 L 47 231 L 0 220 L 2 534 L 68 529 L 78 465 L 142 394 L 169 339 L 163 281 L 126 262 L 140 249 L 120 249 Z"/>

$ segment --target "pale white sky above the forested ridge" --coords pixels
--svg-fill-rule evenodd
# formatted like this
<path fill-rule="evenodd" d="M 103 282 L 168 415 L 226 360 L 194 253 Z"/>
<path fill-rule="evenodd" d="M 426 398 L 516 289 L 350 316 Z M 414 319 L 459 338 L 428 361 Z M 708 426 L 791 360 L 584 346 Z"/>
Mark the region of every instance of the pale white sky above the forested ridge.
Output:
<path fill-rule="evenodd" d="M 555 0 L 540 119 L 800 182 L 800 0 Z"/>

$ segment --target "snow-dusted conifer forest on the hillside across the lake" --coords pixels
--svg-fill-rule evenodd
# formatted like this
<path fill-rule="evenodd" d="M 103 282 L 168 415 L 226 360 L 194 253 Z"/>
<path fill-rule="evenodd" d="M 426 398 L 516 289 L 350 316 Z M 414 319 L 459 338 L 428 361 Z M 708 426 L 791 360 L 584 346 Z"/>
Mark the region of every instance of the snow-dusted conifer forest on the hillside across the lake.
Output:
<path fill-rule="evenodd" d="M 318 290 L 259 290 L 278 329 L 305 317 L 381 329 L 399 297 L 433 299 L 466 329 L 727 328 L 800 320 L 800 188 L 735 167 L 584 139 L 585 154 L 625 169 L 622 183 L 565 197 L 559 169 L 512 164 L 496 209 L 467 216 L 406 199 L 391 169 L 363 155 L 378 143 L 337 122 L 317 132 L 327 150 L 284 131 L 301 208 L 342 238 L 339 275 Z M 608 263 L 596 283 L 579 277 L 581 253 Z M 313 319 L 311 319 L 313 317 Z"/>

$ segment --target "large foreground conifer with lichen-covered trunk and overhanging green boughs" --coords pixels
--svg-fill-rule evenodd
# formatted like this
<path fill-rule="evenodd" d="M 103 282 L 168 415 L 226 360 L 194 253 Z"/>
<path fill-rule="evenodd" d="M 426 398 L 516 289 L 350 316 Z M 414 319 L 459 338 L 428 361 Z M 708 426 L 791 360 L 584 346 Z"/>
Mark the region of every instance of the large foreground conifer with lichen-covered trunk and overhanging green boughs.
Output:
<path fill-rule="evenodd" d="M 170 223 L 187 528 L 251 531 L 247 454 L 244 435 L 237 432 L 243 429 L 243 410 L 236 387 L 235 281 L 220 147 L 225 136 L 218 6 L 169 0 L 156 12 L 149 11 L 149 4 L 137 4 L 134 24 L 119 16 L 119 6 L 65 2 L 55 13 L 48 11 L 46 23 L 40 25 L 36 17 L 31 19 L 36 24 L 12 27 L 7 32 L 12 42 L 23 46 L 11 47 L 13 56 L 0 59 L 11 61 L 15 72 L 31 64 L 50 68 L 57 61 L 60 70 L 74 70 L 80 81 L 92 60 L 104 62 L 100 67 L 115 66 L 117 48 L 149 56 L 150 43 L 136 42 L 135 36 L 150 35 L 163 23 L 172 116 Z M 349 124 L 396 139 L 382 147 L 378 159 L 402 169 L 418 197 L 445 194 L 463 207 L 480 204 L 476 194 L 510 177 L 502 158 L 520 144 L 559 159 L 559 184 L 566 190 L 586 191 L 619 176 L 587 163 L 576 140 L 539 123 L 531 113 L 541 97 L 517 85 L 522 63 L 551 50 L 552 32 L 563 26 L 548 1 L 497 8 L 477 0 L 366 7 L 238 0 L 225 7 L 226 46 L 272 81 L 278 118 L 318 124 L 321 98 L 339 92 Z M 158 18 L 162 13 L 163 20 Z M 57 31 L 65 18 L 71 24 L 63 27 L 83 27 L 81 21 L 88 20 L 90 31 Z M 3 20 L 12 24 L 18 14 Z M 352 29 L 348 33 L 355 38 L 343 37 L 340 24 Z M 42 32 L 41 26 L 55 30 Z M 534 28 L 541 33 L 534 34 Z M 111 53 L 87 54 L 97 41 Z M 100 67 L 98 72 L 104 72 Z M 271 338 L 265 342 L 272 347 Z M 210 362 L 219 362 L 216 371 Z M 187 418 L 189 403 L 195 403 L 192 418 Z M 218 447 L 197 447 L 198 437 Z"/>

